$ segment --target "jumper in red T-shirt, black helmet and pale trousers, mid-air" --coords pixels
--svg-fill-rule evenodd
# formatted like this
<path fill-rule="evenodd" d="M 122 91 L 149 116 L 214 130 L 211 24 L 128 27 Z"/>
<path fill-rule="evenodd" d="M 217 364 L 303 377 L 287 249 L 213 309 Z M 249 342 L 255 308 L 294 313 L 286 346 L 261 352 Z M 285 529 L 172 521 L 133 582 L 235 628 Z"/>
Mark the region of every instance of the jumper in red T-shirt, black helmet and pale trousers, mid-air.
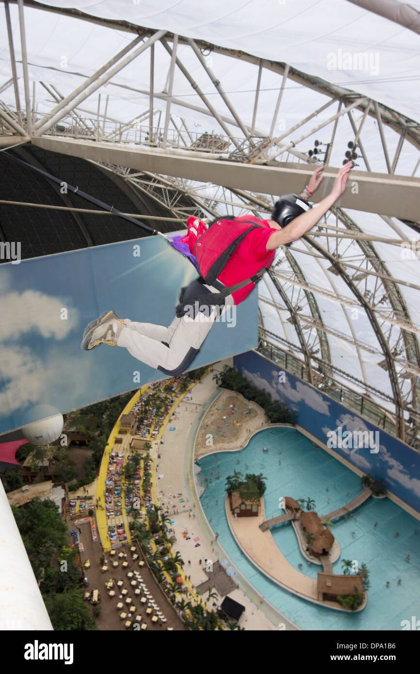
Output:
<path fill-rule="evenodd" d="M 106 311 L 86 326 L 81 348 L 121 346 L 139 361 L 167 375 L 183 372 L 198 354 L 214 321 L 241 303 L 270 267 L 275 250 L 300 239 L 332 207 L 346 188 L 353 162 L 344 164 L 332 191 L 316 208 L 307 201 L 322 182 L 324 166 L 311 175 L 300 195 L 280 197 L 270 220 L 253 215 L 204 223 L 189 218 L 189 242 L 200 276 L 182 288 L 169 327 L 120 319 Z"/>

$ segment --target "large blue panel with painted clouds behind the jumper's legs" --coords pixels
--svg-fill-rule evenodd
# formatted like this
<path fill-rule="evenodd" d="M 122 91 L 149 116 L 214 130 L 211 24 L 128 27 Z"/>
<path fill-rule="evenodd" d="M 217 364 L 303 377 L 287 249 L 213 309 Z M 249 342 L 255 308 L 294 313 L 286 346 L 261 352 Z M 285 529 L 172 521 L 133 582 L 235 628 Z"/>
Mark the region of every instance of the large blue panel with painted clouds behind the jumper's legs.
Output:
<path fill-rule="evenodd" d="M 140 245 L 140 257 L 133 249 Z M 3 264 L 0 268 L 0 433 L 24 425 L 38 404 L 64 413 L 138 388 L 164 375 L 124 348 L 82 351 L 88 322 L 117 316 L 169 326 L 181 286 L 198 276 L 162 237 Z M 67 319 L 61 319 L 67 309 Z M 214 324 L 189 369 L 253 348 L 258 296 L 237 310 L 237 325 Z M 140 372 L 140 385 L 133 373 Z"/>

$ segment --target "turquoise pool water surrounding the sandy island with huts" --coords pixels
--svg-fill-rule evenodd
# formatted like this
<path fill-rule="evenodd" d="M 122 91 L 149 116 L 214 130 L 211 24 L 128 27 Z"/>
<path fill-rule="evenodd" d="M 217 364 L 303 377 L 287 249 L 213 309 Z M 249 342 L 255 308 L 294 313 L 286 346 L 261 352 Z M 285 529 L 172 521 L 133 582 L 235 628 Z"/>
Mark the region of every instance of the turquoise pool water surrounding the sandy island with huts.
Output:
<path fill-rule="evenodd" d="M 263 452 L 264 446 L 268 452 Z M 299 599 L 266 578 L 239 549 L 224 513 L 224 482 L 235 469 L 244 476 L 246 472 L 262 472 L 267 478 L 264 495 L 267 518 L 282 514 L 278 510 L 278 499 L 282 496 L 310 497 L 322 516 L 348 503 L 361 491 L 360 477 L 324 450 L 313 448 L 312 442 L 299 431 L 289 428 L 260 431 L 244 450 L 211 454 L 200 460 L 200 467 L 198 483 L 206 487 L 202 506 L 210 526 L 218 532 L 220 544 L 249 582 L 303 630 L 400 630 L 403 619 L 411 620 L 412 615 L 420 618 L 420 522 L 388 498 L 368 499 L 352 517 L 342 518 L 331 528 L 341 547 L 334 572 L 342 573 L 341 559 L 356 559 L 359 566 L 365 562 L 369 569 L 368 602 L 360 613 L 342 613 Z M 216 479 L 219 470 L 220 478 Z M 397 531 L 399 535 L 395 537 Z M 302 563 L 301 571 L 316 578 L 322 566 L 308 565 L 291 524 L 272 528 L 272 534 L 289 562 L 297 569 Z M 405 559 L 407 553 L 411 555 L 409 562 Z"/>

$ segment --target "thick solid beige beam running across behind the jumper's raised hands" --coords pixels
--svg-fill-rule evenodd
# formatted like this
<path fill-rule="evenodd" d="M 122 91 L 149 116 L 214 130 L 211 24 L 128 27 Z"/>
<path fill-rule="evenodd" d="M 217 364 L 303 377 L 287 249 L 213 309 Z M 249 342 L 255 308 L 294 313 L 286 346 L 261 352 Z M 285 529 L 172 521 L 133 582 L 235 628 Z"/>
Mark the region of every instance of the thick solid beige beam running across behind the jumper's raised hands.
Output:
<path fill-rule="evenodd" d="M 278 162 L 274 166 L 256 166 L 256 164 L 208 159 L 200 152 L 141 147 L 133 150 L 117 144 L 57 136 L 33 138 L 32 142 L 51 152 L 61 152 L 105 164 L 127 166 L 137 171 L 173 175 L 229 188 L 239 187 L 262 194 L 277 194 L 279 186 L 282 193 L 293 192 L 297 189 L 297 185 L 307 184 L 311 176 L 309 166 L 292 162 L 283 164 Z M 332 187 L 337 173 L 338 169 L 324 169 L 324 193 Z M 420 200 L 419 178 L 367 173 L 353 169 L 351 180 L 359 183 L 359 193 L 353 194 L 347 187 L 340 197 L 342 208 L 417 220 Z M 319 195 L 314 201 L 322 199 L 322 196 Z"/>

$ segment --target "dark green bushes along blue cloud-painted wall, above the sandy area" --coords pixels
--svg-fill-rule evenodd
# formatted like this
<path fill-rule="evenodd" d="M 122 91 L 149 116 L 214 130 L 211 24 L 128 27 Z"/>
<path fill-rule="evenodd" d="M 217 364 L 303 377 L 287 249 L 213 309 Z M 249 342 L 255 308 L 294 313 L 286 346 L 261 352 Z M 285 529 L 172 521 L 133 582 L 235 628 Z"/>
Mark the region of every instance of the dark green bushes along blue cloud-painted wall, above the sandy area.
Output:
<path fill-rule="evenodd" d="M 235 371 L 233 367 L 224 365 L 222 372 L 215 373 L 213 379 L 216 380 L 217 386 L 227 388 L 231 391 L 237 391 L 246 400 L 253 400 L 266 412 L 266 416 L 270 423 L 290 423 L 296 424 L 296 412 L 289 410 L 286 404 L 278 400 L 272 400 L 271 394 L 267 393 L 265 389 L 260 390 L 256 386 L 252 386 L 240 372 Z"/>

